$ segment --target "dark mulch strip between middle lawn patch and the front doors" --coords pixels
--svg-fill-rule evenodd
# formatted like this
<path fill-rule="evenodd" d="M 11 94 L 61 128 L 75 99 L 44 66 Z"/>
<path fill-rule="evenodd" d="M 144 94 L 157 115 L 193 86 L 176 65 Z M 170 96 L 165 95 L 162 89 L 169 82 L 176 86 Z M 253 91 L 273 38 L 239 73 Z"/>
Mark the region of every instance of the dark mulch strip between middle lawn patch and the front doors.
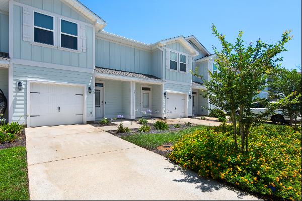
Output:
<path fill-rule="evenodd" d="M 149 132 L 147 133 L 140 133 L 138 132 L 138 129 L 131 129 L 131 133 L 117 133 L 116 131 L 107 131 L 108 133 L 115 135 L 117 137 L 122 137 L 122 136 L 129 136 L 129 135 L 134 135 L 134 134 L 155 134 L 155 133 L 168 133 L 168 132 L 174 132 L 174 131 L 179 131 L 179 130 L 183 130 L 185 128 L 188 128 L 188 126 L 184 125 L 184 124 L 179 124 L 179 128 L 175 128 L 174 125 L 169 125 L 169 129 L 168 130 L 157 130 L 154 128 L 153 124 L 147 124 L 150 127 Z M 192 124 L 191 126 L 196 126 L 195 124 Z"/>

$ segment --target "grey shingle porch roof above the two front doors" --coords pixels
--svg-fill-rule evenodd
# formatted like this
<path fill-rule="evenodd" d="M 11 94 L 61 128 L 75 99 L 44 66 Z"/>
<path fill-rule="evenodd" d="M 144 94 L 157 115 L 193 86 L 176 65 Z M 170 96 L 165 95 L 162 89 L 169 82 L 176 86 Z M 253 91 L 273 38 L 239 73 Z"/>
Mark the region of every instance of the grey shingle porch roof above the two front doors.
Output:
<path fill-rule="evenodd" d="M 101 68 L 101 67 L 96 67 L 96 72 L 102 73 L 102 74 L 109 74 L 109 75 L 135 77 L 135 78 L 140 78 L 140 79 L 161 80 L 161 78 L 158 78 L 158 77 L 153 76 L 153 75 L 127 72 L 127 71 L 121 71 L 121 70 L 113 70 L 113 69 Z"/>

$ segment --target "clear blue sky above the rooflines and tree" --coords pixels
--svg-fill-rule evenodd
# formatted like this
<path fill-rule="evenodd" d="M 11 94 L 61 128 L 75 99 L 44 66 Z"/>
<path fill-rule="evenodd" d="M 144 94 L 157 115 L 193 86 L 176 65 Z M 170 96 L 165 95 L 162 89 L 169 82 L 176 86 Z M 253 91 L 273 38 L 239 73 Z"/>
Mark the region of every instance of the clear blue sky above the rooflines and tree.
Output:
<path fill-rule="evenodd" d="M 226 39 L 234 41 L 238 32 L 244 40 L 280 40 L 284 30 L 292 30 L 293 40 L 282 53 L 282 66 L 301 65 L 301 1 L 168 1 L 168 0 L 80 0 L 107 22 L 105 31 L 144 43 L 183 35 L 194 35 L 210 53 L 220 49 L 211 33 L 214 23 Z"/>

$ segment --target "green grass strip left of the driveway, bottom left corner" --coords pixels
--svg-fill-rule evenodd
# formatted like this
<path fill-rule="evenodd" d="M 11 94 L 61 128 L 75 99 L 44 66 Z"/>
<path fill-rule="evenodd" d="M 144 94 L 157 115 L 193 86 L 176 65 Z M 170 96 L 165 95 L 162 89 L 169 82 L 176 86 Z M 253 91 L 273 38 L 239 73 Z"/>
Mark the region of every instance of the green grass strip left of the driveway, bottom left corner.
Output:
<path fill-rule="evenodd" d="M 28 200 L 25 147 L 0 150 L 0 200 Z"/>

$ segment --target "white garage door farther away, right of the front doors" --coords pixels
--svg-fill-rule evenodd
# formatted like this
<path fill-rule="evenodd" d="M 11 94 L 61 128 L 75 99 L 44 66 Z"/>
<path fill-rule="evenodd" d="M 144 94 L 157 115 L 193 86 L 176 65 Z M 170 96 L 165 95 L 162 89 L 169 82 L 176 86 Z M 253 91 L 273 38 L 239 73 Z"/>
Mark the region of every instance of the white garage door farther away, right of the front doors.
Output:
<path fill-rule="evenodd" d="M 185 117 L 185 97 L 182 93 L 167 94 L 167 118 Z"/>

